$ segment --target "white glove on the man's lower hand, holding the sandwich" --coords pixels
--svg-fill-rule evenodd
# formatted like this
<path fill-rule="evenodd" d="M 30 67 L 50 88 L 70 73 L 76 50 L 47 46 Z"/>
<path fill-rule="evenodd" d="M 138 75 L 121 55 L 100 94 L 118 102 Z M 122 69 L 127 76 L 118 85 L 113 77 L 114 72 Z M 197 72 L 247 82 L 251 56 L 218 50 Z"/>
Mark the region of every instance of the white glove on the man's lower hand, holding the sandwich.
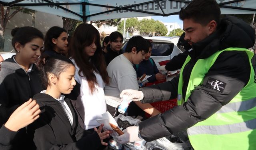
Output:
<path fill-rule="evenodd" d="M 117 137 L 118 143 L 126 144 L 129 142 L 134 142 L 137 140 L 141 140 L 138 137 L 139 127 L 138 126 L 129 126 L 126 128 L 126 132 Z"/>

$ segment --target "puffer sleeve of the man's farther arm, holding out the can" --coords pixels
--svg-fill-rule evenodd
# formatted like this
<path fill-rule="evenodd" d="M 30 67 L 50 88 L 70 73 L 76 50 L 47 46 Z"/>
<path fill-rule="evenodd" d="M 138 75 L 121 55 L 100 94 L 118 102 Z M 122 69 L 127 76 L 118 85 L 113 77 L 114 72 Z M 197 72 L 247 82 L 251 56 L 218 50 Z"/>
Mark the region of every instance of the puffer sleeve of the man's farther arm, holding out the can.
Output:
<path fill-rule="evenodd" d="M 178 80 L 179 76 L 176 76 L 171 81 L 140 88 L 139 90 L 144 94 L 141 102 L 152 103 L 177 98 Z"/>

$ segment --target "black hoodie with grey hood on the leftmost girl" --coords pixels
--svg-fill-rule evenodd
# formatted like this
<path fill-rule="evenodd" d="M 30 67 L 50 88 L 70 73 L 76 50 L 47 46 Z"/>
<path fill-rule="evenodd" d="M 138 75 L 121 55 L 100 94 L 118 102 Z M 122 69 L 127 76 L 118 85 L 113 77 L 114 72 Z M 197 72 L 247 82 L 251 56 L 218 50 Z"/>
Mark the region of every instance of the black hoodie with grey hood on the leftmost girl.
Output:
<path fill-rule="evenodd" d="M 15 56 L 15 55 L 14 55 Z M 39 70 L 32 64 L 32 70 L 26 73 L 13 57 L 2 62 L 0 71 L 0 126 L 21 104 L 28 101 L 42 90 Z M 12 141 L 12 148 L 33 149 L 32 140 L 28 139 L 26 129 L 22 128 Z"/>

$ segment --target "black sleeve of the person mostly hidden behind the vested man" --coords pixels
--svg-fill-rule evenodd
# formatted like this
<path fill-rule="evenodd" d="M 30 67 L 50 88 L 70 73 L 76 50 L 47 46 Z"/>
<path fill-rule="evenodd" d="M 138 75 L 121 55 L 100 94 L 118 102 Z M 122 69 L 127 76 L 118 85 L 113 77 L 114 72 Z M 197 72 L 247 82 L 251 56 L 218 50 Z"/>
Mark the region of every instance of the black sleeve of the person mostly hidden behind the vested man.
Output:
<path fill-rule="evenodd" d="M 178 70 L 178 69 L 182 68 L 182 65 L 184 64 L 187 56 L 188 56 L 187 51 L 174 56 L 170 60 L 170 62 L 168 62 L 166 64 L 165 69 L 168 71 L 174 71 L 174 70 Z"/>

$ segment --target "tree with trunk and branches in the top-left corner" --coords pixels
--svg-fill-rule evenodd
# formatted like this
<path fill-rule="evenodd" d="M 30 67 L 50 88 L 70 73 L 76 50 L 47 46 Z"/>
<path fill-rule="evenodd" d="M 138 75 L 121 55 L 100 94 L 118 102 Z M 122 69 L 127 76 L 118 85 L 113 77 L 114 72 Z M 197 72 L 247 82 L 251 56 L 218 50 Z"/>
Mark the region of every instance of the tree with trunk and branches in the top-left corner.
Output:
<path fill-rule="evenodd" d="M 22 7 L 4 7 L 0 4 L 0 52 L 4 51 L 4 31 L 7 25 L 7 22 L 18 12 L 23 12 L 25 14 L 34 14 L 34 10 L 22 8 Z M 11 12 L 10 10 L 14 10 Z"/>

